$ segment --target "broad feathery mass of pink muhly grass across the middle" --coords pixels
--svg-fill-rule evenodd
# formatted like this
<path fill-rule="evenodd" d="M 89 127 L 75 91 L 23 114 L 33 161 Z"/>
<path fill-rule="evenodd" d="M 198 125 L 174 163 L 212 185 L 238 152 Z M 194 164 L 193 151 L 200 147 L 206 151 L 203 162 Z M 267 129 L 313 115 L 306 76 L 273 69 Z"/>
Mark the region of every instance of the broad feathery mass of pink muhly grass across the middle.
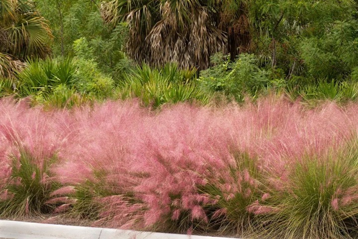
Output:
<path fill-rule="evenodd" d="M 75 198 L 85 188 L 101 207 L 99 222 L 124 228 L 193 229 L 211 209 L 232 225 L 241 202 L 245 215 L 269 213 L 266 204 L 277 195 L 295 195 L 292 169 L 304 157 L 326 160 L 358 128 L 357 105 L 307 109 L 282 98 L 221 109 L 178 104 L 161 112 L 131 101 L 44 112 L 0 100 L 0 113 L 1 183 L 21 149 L 39 167 L 56 155 L 54 175 L 32 178 L 65 185 L 53 197 Z M 331 206 L 351 205 L 357 195 L 342 189 Z"/>

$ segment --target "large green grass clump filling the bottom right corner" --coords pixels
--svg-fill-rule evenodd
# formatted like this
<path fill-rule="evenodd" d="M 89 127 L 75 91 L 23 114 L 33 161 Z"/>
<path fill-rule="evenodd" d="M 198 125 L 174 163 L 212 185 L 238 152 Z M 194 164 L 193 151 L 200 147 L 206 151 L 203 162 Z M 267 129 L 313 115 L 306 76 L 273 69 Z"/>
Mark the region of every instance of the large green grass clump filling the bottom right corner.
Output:
<path fill-rule="evenodd" d="M 307 154 L 289 166 L 279 209 L 266 217 L 270 237 L 347 239 L 357 236 L 357 143 Z"/>

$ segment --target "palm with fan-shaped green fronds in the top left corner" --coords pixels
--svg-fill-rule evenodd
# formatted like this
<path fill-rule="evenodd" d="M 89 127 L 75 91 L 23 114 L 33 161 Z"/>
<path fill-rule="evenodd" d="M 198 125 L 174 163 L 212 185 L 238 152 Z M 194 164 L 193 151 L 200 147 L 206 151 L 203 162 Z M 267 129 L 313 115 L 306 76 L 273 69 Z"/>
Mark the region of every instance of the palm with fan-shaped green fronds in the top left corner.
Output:
<path fill-rule="evenodd" d="M 51 30 L 32 0 L 0 1 L 0 77 L 10 77 L 27 57 L 49 54 Z"/>

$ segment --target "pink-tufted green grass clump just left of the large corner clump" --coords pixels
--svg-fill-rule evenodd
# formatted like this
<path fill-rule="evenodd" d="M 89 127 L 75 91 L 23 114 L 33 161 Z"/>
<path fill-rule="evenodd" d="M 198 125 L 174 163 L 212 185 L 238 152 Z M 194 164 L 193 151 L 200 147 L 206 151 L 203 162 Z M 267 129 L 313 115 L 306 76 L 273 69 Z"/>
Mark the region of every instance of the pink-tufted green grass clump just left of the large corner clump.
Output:
<path fill-rule="evenodd" d="M 215 202 L 204 206 L 210 217 L 209 230 L 253 235 L 259 230 L 258 215 L 273 210 L 259 205 L 270 198 L 271 190 L 267 187 L 265 173 L 259 169 L 257 157 L 246 152 L 236 152 L 232 156 L 234 163 L 221 170 L 219 176 L 208 179 L 199 190 Z"/>

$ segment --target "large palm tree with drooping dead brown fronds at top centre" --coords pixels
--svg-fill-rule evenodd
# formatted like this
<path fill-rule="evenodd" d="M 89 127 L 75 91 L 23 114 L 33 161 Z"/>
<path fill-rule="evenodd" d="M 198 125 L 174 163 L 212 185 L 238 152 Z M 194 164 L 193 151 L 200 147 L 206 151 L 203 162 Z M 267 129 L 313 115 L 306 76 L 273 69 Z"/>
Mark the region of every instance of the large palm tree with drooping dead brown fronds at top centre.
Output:
<path fill-rule="evenodd" d="M 227 47 L 228 34 L 218 22 L 219 1 L 109 0 L 102 3 L 101 11 L 113 26 L 119 21 L 129 23 L 127 51 L 136 61 L 203 69 L 212 54 Z"/>

